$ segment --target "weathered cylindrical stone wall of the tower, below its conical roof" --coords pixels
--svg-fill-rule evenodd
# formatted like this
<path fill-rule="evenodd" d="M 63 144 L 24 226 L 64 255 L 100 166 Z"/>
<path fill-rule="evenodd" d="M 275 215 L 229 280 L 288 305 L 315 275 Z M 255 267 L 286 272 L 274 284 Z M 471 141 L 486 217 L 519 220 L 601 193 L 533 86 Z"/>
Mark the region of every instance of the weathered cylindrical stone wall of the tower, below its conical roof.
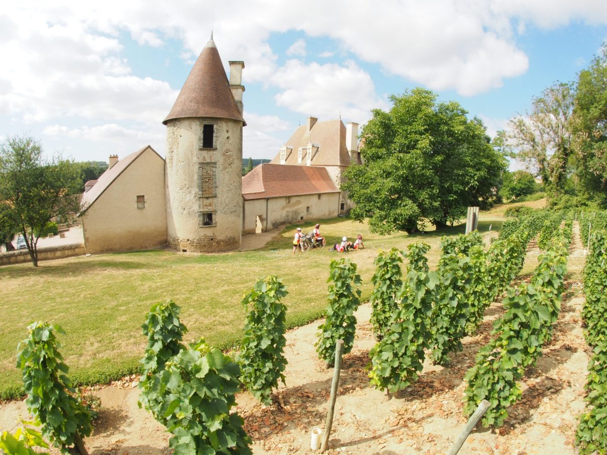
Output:
<path fill-rule="evenodd" d="M 214 147 L 202 148 L 203 124 L 214 125 Z M 242 122 L 222 118 L 169 120 L 166 135 L 168 244 L 178 251 L 240 248 Z M 212 214 L 212 226 L 204 218 Z M 203 221 L 203 219 L 205 221 Z"/>

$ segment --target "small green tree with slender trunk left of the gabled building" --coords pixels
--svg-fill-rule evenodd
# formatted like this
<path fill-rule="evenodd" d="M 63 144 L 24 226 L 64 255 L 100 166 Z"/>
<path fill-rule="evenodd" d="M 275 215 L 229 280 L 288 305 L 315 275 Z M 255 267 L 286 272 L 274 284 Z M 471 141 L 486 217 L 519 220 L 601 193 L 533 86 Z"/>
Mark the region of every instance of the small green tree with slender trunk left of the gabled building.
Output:
<path fill-rule="evenodd" d="M 13 136 L 0 146 L 0 201 L 11 207 L 10 217 L 38 266 L 38 236 L 53 218 L 69 219 L 80 209 L 79 172 L 73 161 L 43 157 L 33 138 Z"/>

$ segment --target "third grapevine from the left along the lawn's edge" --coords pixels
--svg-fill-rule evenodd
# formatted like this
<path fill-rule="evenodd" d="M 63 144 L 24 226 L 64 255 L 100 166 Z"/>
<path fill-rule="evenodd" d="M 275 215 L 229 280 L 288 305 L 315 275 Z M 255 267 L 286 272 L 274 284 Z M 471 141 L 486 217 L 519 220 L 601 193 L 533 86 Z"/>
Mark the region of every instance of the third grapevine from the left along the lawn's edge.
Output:
<path fill-rule="evenodd" d="M 240 379 L 256 399 L 269 405 L 271 392 L 279 379 L 285 383 L 282 373 L 287 366 L 283 354 L 285 316 L 287 307 L 280 300 L 288 294 L 279 278 L 270 276 L 259 280 L 242 300 L 246 315 L 245 337 L 242 340 L 237 361 Z"/>

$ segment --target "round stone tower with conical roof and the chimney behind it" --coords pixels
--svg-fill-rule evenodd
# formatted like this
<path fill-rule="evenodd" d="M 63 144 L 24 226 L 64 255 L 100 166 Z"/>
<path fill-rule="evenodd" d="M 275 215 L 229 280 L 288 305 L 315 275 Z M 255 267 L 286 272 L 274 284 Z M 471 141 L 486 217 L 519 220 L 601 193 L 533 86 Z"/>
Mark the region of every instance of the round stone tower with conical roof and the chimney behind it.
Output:
<path fill-rule="evenodd" d="M 211 36 L 163 121 L 167 237 L 178 251 L 240 248 L 243 67 L 230 62 L 228 81 Z"/>

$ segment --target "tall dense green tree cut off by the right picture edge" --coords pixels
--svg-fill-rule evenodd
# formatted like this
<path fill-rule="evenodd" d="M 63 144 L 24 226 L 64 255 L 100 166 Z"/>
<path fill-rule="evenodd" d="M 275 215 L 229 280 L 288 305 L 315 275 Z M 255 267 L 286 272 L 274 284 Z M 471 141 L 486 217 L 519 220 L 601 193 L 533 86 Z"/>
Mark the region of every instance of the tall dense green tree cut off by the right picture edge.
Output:
<path fill-rule="evenodd" d="M 607 44 L 578 75 L 571 124 L 583 188 L 607 205 Z"/>

